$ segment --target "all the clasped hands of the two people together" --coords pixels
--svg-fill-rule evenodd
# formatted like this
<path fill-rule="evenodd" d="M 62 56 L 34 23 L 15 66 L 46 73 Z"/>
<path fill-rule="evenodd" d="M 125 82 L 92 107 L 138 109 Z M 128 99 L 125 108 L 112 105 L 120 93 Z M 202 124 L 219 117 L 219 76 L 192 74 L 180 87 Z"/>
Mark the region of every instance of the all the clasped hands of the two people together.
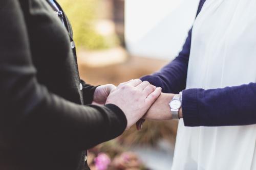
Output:
<path fill-rule="evenodd" d="M 168 103 L 174 94 L 161 93 L 160 87 L 139 79 L 119 84 L 98 86 L 95 89 L 93 102 L 97 104 L 114 104 L 127 118 L 127 129 L 137 123 L 141 129 L 143 119 L 172 119 Z M 143 118 L 143 119 L 141 119 Z"/>

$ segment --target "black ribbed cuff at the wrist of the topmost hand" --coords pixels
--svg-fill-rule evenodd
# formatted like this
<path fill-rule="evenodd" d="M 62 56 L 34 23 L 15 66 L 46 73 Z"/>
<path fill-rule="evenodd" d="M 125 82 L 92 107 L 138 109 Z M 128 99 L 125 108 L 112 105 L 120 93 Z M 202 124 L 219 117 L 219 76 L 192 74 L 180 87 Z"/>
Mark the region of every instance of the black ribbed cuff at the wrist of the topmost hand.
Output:
<path fill-rule="evenodd" d="M 110 109 L 117 117 L 116 118 L 117 121 L 114 124 L 112 124 L 111 132 L 110 132 L 110 133 L 112 133 L 111 136 L 113 136 L 113 138 L 115 138 L 115 137 L 121 135 L 124 132 L 124 130 L 126 129 L 127 119 L 126 119 L 126 116 L 123 113 L 123 111 L 118 106 L 113 105 L 113 104 L 106 104 L 105 107 Z"/>

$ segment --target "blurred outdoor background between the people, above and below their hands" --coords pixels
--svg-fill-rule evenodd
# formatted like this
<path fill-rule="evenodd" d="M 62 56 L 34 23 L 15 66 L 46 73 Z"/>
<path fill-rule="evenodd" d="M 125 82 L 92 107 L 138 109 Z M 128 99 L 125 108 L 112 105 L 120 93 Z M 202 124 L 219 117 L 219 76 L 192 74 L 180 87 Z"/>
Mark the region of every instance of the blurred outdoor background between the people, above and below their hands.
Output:
<path fill-rule="evenodd" d="M 199 0 L 58 0 L 68 15 L 80 76 L 118 85 L 151 74 L 180 52 Z M 172 166 L 178 122 L 149 122 L 90 150 L 92 170 Z"/>

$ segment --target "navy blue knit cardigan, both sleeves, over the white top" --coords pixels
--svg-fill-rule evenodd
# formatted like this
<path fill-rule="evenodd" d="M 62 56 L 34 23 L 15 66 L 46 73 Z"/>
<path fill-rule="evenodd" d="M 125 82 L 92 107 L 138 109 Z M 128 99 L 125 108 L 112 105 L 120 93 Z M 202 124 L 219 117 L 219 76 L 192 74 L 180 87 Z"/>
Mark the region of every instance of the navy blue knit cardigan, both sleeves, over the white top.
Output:
<path fill-rule="evenodd" d="M 197 14 L 203 7 L 201 0 Z M 192 29 L 191 29 L 192 30 Z M 182 51 L 158 72 L 141 80 L 162 87 L 165 93 L 182 94 L 185 126 L 235 126 L 256 124 L 256 83 L 219 89 L 185 89 L 191 30 Z M 256 66 L 255 66 L 256 67 Z"/>

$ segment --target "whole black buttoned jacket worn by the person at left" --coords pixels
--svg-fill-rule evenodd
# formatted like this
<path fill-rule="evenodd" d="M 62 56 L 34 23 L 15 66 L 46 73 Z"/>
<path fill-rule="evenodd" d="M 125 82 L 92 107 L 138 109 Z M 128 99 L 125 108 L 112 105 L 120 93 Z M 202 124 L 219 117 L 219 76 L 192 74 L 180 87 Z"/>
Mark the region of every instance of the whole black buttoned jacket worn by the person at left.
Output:
<path fill-rule="evenodd" d="M 125 115 L 90 105 L 95 87 L 46 0 L 1 0 L 0 23 L 0 169 L 87 169 L 86 150 L 120 135 Z"/>

